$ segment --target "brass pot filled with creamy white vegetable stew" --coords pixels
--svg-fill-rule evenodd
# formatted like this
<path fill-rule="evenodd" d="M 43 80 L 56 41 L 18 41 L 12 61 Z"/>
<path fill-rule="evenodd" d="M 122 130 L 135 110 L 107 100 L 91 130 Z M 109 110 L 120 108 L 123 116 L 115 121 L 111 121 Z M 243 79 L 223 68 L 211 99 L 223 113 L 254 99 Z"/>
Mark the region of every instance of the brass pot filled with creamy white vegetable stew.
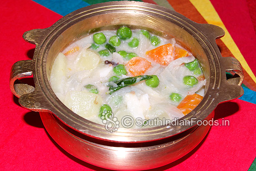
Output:
<path fill-rule="evenodd" d="M 10 87 L 68 153 L 106 169 L 153 169 L 194 149 L 210 129 L 198 123 L 242 96 L 242 67 L 221 56 L 222 36 L 158 5 L 91 5 L 23 34 L 35 53 L 14 64 Z M 17 83 L 32 74 L 35 87 Z"/>

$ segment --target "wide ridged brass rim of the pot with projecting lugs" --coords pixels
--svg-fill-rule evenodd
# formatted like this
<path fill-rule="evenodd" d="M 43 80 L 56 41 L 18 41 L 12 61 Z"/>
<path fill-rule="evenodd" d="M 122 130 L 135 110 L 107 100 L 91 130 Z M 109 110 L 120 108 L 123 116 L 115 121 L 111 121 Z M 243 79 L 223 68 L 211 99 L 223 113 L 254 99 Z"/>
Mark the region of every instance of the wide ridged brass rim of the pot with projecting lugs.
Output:
<path fill-rule="evenodd" d="M 61 36 L 62 32 L 78 21 L 95 15 L 113 13 L 120 10 L 124 10 L 127 14 L 129 14 L 129 12 L 142 11 L 147 15 L 151 14 L 154 17 L 164 18 L 170 22 L 176 22 L 182 29 L 191 33 L 191 35 L 202 45 L 205 53 L 209 55 L 210 79 L 208 80 L 208 90 L 205 93 L 205 97 L 192 112 L 181 118 L 183 120 L 188 120 L 192 117 L 196 118 L 195 123 L 192 125 L 158 126 L 139 130 L 119 128 L 118 131 L 110 133 L 105 129 L 104 125 L 88 121 L 72 112 L 61 103 L 55 93 L 53 93 L 47 78 L 46 59 L 54 41 Z M 235 59 L 225 59 L 221 57 L 215 42 L 215 39 L 220 38 L 221 36 L 224 36 L 224 31 L 220 27 L 195 23 L 175 11 L 158 5 L 131 1 L 105 2 L 97 5 L 90 5 L 67 14 L 67 16 L 61 18 L 51 27 L 30 30 L 24 33 L 23 38 L 26 41 L 36 44 L 34 58 L 30 61 L 32 67 L 29 66 L 24 69 L 28 71 L 31 70 L 30 72 L 33 73 L 35 91 L 23 94 L 19 99 L 19 103 L 23 107 L 37 112 L 51 112 L 65 123 L 65 125 L 83 135 L 94 137 L 96 139 L 135 143 L 171 137 L 196 126 L 196 121 L 205 119 L 214 110 L 217 104 L 242 96 L 243 90 L 238 86 L 243 80 L 241 72 L 239 73 L 238 70 L 236 70 L 241 77 L 238 85 L 230 84 L 226 80 L 225 71 L 234 68 L 235 64 L 233 63 Z M 237 67 L 237 65 L 239 66 L 240 64 L 236 64 L 235 67 Z M 11 80 L 15 80 L 14 75 L 15 74 L 11 74 Z M 14 81 L 10 81 L 11 89 L 12 84 L 14 84 Z M 16 93 L 14 88 L 12 91 L 14 94 Z M 233 94 L 231 94 L 232 92 Z M 19 96 L 18 93 L 15 95 Z"/>

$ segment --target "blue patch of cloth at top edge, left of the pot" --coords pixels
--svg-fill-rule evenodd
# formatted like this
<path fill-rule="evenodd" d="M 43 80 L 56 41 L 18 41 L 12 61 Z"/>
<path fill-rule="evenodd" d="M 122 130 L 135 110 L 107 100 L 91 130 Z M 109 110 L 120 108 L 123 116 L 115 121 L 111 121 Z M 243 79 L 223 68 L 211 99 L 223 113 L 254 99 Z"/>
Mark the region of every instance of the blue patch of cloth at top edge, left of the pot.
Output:
<path fill-rule="evenodd" d="M 90 4 L 83 0 L 34 0 L 40 5 L 51 9 L 52 11 L 65 16 L 76 9 L 86 7 Z"/>

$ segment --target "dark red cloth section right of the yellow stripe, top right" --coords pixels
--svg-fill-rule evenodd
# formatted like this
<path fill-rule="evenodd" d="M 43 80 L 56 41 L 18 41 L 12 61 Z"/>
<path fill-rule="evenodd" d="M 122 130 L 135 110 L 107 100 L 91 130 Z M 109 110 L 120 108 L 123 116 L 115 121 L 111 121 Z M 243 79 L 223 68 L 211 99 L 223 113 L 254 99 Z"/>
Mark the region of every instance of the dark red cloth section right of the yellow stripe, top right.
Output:
<path fill-rule="evenodd" d="M 252 11 L 250 11 L 250 15 L 246 0 L 210 1 L 255 75 L 256 34 L 254 32 L 254 25 L 256 23 L 252 23 L 250 16 L 255 18 L 256 7 L 254 6 L 254 15 Z M 249 5 L 256 4 L 255 2 L 249 3 L 249 1 Z"/>

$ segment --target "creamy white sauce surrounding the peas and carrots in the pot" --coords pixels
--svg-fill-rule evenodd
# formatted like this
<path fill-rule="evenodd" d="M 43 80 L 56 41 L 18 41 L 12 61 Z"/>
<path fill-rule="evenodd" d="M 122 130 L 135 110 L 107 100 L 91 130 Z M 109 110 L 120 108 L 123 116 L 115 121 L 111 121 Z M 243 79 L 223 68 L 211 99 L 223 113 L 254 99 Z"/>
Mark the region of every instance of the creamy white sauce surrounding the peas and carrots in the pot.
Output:
<path fill-rule="evenodd" d="M 116 31 L 102 31 L 106 36 L 106 42 L 111 36 L 116 35 Z M 159 37 L 161 43 L 153 46 L 150 40 L 141 34 L 140 30 L 133 30 L 132 37 L 128 40 L 121 41 L 121 45 L 116 48 L 116 52 L 110 53 L 108 57 L 102 57 L 98 54 L 100 50 L 106 49 L 104 45 L 99 45 L 96 50 L 90 48 L 94 43 L 92 35 L 86 36 L 68 46 L 58 57 L 50 74 L 50 84 L 56 96 L 69 109 L 76 114 L 90 121 L 103 124 L 99 118 L 99 109 L 101 105 L 107 104 L 111 107 L 112 112 L 118 121 L 123 116 L 129 115 L 134 119 L 154 119 L 155 117 L 165 119 L 175 119 L 184 116 L 177 108 L 177 102 L 170 100 L 171 93 L 179 93 L 182 99 L 188 94 L 197 92 L 204 96 L 205 80 L 199 81 L 194 87 L 188 87 L 182 81 L 185 75 L 195 75 L 193 71 L 189 71 L 184 63 L 194 61 L 194 57 L 189 53 L 189 57 L 182 57 L 173 60 L 168 66 L 157 64 L 147 57 L 146 52 L 159 46 L 171 43 L 181 48 L 175 43 L 175 39 L 164 39 Z M 152 36 L 152 34 L 151 34 Z M 132 38 L 139 39 L 137 48 L 130 48 L 128 42 Z M 78 47 L 79 50 L 67 54 L 72 48 Z M 112 94 L 108 93 L 109 85 L 116 87 L 114 82 L 108 82 L 109 78 L 116 76 L 113 72 L 112 64 L 104 64 L 105 60 L 114 61 L 118 64 L 127 64 L 128 60 L 123 58 L 117 52 L 125 50 L 134 52 L 139 57 L 147 59 L 151 62 L 151 67 L 144 75 L 157 75 L 159 85 L 156 88 L 149 87 L 145 81 L 138 82 L 131 86 L 124 87 Z M 66 55 L 64 55 L 66 54 Z M 119 78 L 131 77 L 131 73 L 121 75 Z M 88 92 L 86 85 L 91 84 L 97 87 L 98 93 Z M 120 127 L 122 125 L 120 124 Z M 135 124 L 131 128 L 141 128 Z M 143 127 L 147 128 L 147 127 Z"/>

